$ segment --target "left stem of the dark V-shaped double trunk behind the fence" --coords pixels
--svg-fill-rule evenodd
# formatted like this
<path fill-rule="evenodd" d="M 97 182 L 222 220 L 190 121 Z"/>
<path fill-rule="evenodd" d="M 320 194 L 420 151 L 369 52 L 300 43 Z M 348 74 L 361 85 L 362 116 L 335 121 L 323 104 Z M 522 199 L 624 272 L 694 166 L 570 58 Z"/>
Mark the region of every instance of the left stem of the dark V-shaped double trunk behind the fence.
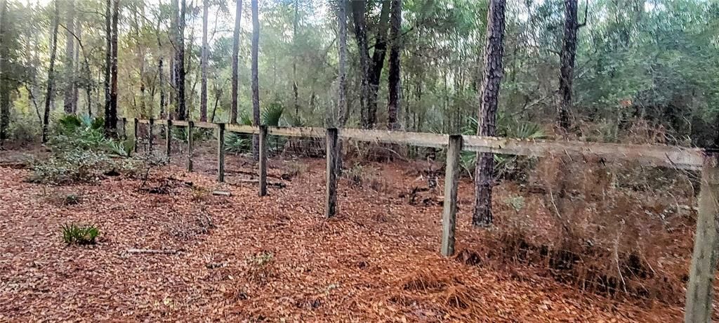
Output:
<path fill-rule="evenodd" d="M 359 117 L 363 128 L 370 128 L 369 112 L 367 110 L 370 99 L 370 50 L 367 46 L 367 22 L 365 21 L 365 0 L 350 1 L 352 4 L 352 20 L 354 21 L 354 39 L 357 40 L 359 52 L 359 73 L 362 78 L 359 94 Z"/>

